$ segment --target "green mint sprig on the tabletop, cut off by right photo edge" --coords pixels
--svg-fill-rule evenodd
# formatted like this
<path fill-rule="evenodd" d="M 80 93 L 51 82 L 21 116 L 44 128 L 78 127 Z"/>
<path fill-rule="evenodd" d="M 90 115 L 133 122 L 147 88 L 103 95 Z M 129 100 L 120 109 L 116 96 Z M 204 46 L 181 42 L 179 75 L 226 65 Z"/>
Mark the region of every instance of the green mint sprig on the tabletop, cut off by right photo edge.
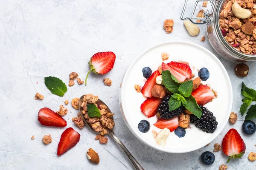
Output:
<path fill-rule="evenodd" d="M 256 90 L 252 88 L 248 88 L 244 82 L 242 82 L 241 86 L 241 94 L 244 96 L 242 99 L 242 105 L 240 107 L 240 113 L 243 116 L 244 113 L 247 111 L 247 108 L 250 106 L 252 102 L 256 102 Z M 245 116 L 245 120 L 251 120 L 256 118 L 256 105 L 252 105 Z"/>

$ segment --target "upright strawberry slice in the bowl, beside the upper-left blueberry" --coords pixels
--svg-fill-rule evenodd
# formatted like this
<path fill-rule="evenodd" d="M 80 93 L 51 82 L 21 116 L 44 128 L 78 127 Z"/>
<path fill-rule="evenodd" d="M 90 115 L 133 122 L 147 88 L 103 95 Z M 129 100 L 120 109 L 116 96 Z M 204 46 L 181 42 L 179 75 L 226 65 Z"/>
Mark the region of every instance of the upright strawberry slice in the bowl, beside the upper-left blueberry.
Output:
<path fill-rule="evenodd" d="M 148 77 L 147 81 L 145 82 L 143 88 L 141 89 L 141 93 L 146 97 L 152 97 L 151 90 L 156 85 L 156 78 L 160 76 L 160 72 L 157 70 Z"/>

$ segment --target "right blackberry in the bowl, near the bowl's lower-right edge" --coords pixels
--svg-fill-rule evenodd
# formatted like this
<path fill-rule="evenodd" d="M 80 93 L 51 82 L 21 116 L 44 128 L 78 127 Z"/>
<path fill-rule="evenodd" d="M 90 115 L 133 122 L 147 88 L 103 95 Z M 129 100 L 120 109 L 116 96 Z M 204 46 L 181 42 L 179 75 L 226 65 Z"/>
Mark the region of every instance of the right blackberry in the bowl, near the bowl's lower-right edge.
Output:
<path fill-rule="evenodd" d="M 206 133 L 213 133 L 218 125 L 215 116 L 207 108 L 202 105 L 199 105 L 203 113 L 200 119 L 195 115 L 190 116 L 190 122 L 195 124 L 195 127 L 198 127 L 200 130 L 203 130 Z"/>

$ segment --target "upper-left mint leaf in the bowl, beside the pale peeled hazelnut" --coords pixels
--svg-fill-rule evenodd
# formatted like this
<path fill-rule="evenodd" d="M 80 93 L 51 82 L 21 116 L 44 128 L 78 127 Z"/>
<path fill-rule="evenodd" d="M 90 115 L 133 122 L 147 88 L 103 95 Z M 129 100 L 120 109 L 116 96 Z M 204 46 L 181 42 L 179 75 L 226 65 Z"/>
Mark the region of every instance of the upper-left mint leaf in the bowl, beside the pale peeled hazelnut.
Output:
<path fill-rule="evenodd" d="M 179 84 L 172 79 L 172 74 L 169 70 L 162 71 L 162 79 L 165 87 L 172 93 L 178 92 Z"/>

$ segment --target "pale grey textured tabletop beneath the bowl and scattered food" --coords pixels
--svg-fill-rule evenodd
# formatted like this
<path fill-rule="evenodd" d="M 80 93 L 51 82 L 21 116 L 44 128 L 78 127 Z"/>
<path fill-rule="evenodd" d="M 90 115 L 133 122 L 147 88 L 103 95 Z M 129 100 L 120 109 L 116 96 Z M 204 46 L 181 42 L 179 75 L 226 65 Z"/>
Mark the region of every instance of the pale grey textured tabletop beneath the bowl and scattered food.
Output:
<path fill-rule="evenodd" d="M 208 147 L 190 153 L 169 154 L 151 149 L 136 139 L 126 127 L 118 104 L 118 88 L 128 65 L 146 48 L 169 40 L 185 40 L 200 44 L 214 54 L 205 27 L 197 37 L 190 37 L 180 20 L 183 0 L 2 0 L 0 1 L 0 169 L 52 169 L 52 170 L 126 170 L 133 169 L 119 146 L 109 139 L 102 145 L 86 128 L 78 129 L 71 118 L 77 111 L 68 105 L 64 116 L 67 127 L 81 134 L 80 142 L 61 157 L 56 155 L 60 135 L 64 128 L 43 127 L 37 120 L 40 108 L 57 111 L 66 99 L 86 93 L 99 96 L 115 114 L 116 135 L 122 140 L 146 170 L 194 169 L 217 170 L 227 160 L 222 152 L 215 153 L 215 163 L 209 167 L 201 164 L 202 152 L 213 150 L 214 143 L 221 143 L 230 128 L 236 128 L 244 139 L 247 150 L 243 159 L 231 161 L 231 170 L 255 169 L 255 163 L 247 159 L 256 151 L 256 137 L 241 132 L 244 117 L 239 115 L 235 125 L 227 123 L 221 134 Z M 191 8 L 189 8 L 191 9 Z M 163 21 L 173 19 L 174 31 L 166 34 Z M 44 85 L 44 77 L 55 76 L 68 84 L 72 71 L 84 79 L 89 70 L 87 62 L 98 51 L 113 51 L 117 59 L 113 70 L 94 77 L 90 74 L 87 86 L 68 87 L 64 97 L 51 94 Z M 182 52 L 182 51 L 180 51 Z M 236 77 L 236 63 L 218 54 L 228 71 L 233 86 L 233 111 L 241 104 L 241 81 L 256 88 L 255 62 L 250 62 L 250 73 L 245 78 Z M 189 56 L 188 56 L 189 57 Z M 111 87 L 102 79 L 113 80 Z M 218 81 L 218 80 L 216 80 Z M 38 84 L 37 84 L 38 82 Z M 219 82 L 221 83 L 221 82 Z M 45 99 L 34 99 L 35 93 Z M 231 102 L 231 101 L 227 101 Z M 216 106 L 218 107 L 218 106 Z M 45 146 L 42 137 L 51 134 L 53 141 Z M 35 140 L 30 137 L 35 135 Z M 189 141 L 188 141 L 189 142 Z M 86 150 L 92 147 L 99 153 L 100 164 L 93 165 L 86 158 Z"/>

